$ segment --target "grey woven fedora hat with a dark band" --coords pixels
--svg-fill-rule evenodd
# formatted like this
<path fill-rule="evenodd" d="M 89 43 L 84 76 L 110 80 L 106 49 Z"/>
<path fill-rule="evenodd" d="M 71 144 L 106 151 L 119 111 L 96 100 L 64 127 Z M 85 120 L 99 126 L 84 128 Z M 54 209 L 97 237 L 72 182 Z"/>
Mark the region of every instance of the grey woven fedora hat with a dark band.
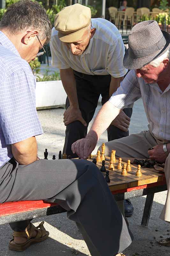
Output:
<path fill-rule="evenodd" d="M 170 35 L 160 30 L 157 21 L 142 21 L 130 31 L 128 46 L 123 66 L 128 69 L 142 68 L 169 49 Z"/>

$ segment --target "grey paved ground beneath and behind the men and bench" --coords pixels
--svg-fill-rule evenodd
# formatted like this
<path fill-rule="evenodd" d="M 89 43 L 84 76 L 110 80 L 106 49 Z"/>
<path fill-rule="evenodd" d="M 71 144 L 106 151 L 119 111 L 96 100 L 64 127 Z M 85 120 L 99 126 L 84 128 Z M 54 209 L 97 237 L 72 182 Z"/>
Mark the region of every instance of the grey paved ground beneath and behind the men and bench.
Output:
<path fill-rule="evenodd" d="M 99 111 L 100 107 L 101 106 L 99 105 L 97 111 Z M 43 157 L 44 148 L 48 148 L 49 158 L 51 158 L 53 154 L 58 155 L 59 150 L 62 150 L 65 130 L 62 121 L 63 112 L 64 109 L 61 108 L 38 111 L 38 115 L 44 130 L 44 135 L 37 137 L 40 157 Z M 147 119 L 142 107 L 142 101 L 138 100 L 133 108 L 133 115 L 129 130 L 130 133 L 134 133 L 146 129 Z M 98 145 L 104 141 L 107 141 L 106 132 L 101 136 Z M 94 150 L 94 154 L 96 153 L 96 149 Z M 134 205 L 134 214 L 128 220 L 135 238 L 133 243 L 124 252 L 126 256 L 170 255 L 170 247 L 160 247 L 158 244 L 156 244 L 156 240 L 159 240 L 162 237 L 166 238 L 170 236 L 169 224 L 159 219 L 159 214 L 163 204 L 165 203 L 165 199 L 166 192 L 157 193 L 155 195 L 148 228 L 142 228 L 140 226 L 145 197 L 131 200 Z M 50 237 L 40 244 L 32 245 L 25 252 L 21 253 L 8 250 L 8 241 L 11 239 L 12 234 L 11 229 L 9 225 L 0 226 L 0 256 L 90 255 L 76 225 L 66 218 L 66 213 L 36 219 L 33 220 L 33 222 L 37 223 L 41 220 L 45 220 L 45 227 L 50 231 Z M 103 220 L 107 221 L 107 216 L 103 216 Z M 104 240 L 105 238 L 103 237 L 103 243 L 105 242 Z"/>

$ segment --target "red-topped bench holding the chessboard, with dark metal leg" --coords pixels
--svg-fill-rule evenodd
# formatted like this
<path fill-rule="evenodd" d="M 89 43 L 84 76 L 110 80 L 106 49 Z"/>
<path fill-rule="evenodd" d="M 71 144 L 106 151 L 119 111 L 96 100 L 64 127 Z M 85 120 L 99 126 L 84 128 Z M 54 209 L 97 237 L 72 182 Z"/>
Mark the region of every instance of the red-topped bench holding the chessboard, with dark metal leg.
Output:
<path fill-rule="evenodd" d="M 148 226 L 154 193 L 165 190 L 167 190 L 166 180 L 165 176 L 162 175 L 162 180 L 159 182 L 111 191 L 116 201 L 147 195 L 141 225 Z M 34 219 L 61 212 L 66 211 L 60 205 L 43 200 L 8 202 L 0 204 L 0 224 Z"/>

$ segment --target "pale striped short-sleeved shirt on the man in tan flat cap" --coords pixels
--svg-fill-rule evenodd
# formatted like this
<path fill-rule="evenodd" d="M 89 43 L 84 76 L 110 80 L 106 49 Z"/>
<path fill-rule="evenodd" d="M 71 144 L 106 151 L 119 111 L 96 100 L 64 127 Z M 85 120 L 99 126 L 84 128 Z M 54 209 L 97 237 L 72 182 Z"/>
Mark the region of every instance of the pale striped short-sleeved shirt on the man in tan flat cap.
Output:
<path fill-rule="evenodd" d="M 96 28 L 96 32 L 81 56 L 73 55 L 53 28 L 50 42 L 52 66 L 72 68 L 87 75 L 124 76 L 127 73 L 123 67 L 125 49 L 119 30 L 110 21 L 100 18 L 92 19 L 92 28 Z"/>

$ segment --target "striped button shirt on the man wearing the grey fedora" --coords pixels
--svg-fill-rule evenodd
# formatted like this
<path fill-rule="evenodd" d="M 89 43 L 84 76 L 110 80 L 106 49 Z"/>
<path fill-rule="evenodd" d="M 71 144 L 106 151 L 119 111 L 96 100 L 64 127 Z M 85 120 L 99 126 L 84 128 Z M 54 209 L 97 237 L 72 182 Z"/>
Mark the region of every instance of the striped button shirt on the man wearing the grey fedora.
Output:
<path fill-rule="evenodd" d="M 162 92 L 157 83 L 147 84 L 142 77 L 137 78 L 135 70 L 131 70 L 109 101 L 123 109 L 141 97 L 150 124 L 149 130 L 155 138 L 169 141 L 170 84 Z"/>

